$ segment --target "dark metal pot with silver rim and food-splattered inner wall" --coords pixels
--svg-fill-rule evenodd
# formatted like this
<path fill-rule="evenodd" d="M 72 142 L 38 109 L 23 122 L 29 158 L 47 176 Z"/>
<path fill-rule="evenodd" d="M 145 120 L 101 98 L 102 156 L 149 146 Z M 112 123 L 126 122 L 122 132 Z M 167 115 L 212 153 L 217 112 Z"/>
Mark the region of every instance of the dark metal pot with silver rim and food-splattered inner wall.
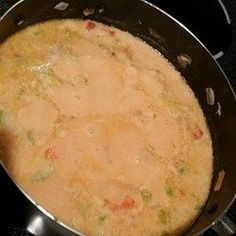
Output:
<path fill-rule="evenodd" d="M 214 150 L 208 200 L 185 235 L 199 235 L 216 225 L 236 192 L 236 100 L 212 55 L 181 23 L 145 0 L 21 0 L 0 19 L 0 43 L 34 23 L 65 18 L 91 19 L 128 31 L 159 50 L 184 76 L 203 109 Z M 17 186 L 3 164 L 0 170 L 3 196 L 11 202 L 5 205 L 3 197 L 1 218 L 10 219 L 13 215 L 14 222 L 35 235 L 82 235 L 38 206 Z M 222 235 L 233 234 L 232 228 Z"/>

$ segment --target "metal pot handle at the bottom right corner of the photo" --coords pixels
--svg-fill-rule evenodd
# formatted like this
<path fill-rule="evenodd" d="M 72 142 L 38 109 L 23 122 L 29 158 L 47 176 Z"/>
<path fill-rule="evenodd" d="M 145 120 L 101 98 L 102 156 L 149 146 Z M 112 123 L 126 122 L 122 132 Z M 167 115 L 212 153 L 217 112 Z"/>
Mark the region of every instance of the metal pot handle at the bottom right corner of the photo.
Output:
<path fill-rule="evenodd" d="M 236 225 L 226 215 L 213 224 L 211 228 L 220 236 L 235 235 L 236 233 Z"/>

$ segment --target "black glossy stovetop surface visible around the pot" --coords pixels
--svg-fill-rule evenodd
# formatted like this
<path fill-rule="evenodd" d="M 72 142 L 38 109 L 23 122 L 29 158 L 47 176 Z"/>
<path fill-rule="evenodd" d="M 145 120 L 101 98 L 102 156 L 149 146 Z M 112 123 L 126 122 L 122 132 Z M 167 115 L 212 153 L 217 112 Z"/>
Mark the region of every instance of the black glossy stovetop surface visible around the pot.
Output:
<path fill-rule="evenodd" d="M 208 48 L 214 58 L 218 61 L 226 76 L 236 91 L 236 1 L 235 0 L 149 0 L 161 9 L 173 15 L 181 23 L 187 26 Z M 4 14 L 17 0 L 0 0 L 0 15 Z M 7 176 L 0 171 L 0 186 L 6 183 Z M 9 182 L 9 180 L 8 180 Z M 9 184 L 12 184 L 9 182 Z M 5 187 L 7 188 L 7 187 Z M 17 189 L 5 189 L 4 193 L 17 194 Z M 12 192 L 13 191 L 13 192 Z M 1 193 L 2 194 L 2 193 Z M 30 234 L 24 225 L 25 220 L 14 218 L 14 212 L 8 214 L 10 217 L 3 218 L 2 214 L 12 199 L 3 203 L 0 209 L 0 235 L 2 236 L 28 236 Z M 19 194 L 19 193 L 18 193 Z M 0 197 L 1 199 L 1 197 Z M 25 204 L 23 196 L 19 197 L 18 203 L 13 203 L 16 211 L 21 204 Z M 24 211 L 22 215 L 24 215 Z M 12 216 L 12 217 L 11 217 Z M 226 220 L 230 219 L 236 224 L 236 201 L 226 214 Z M 29 229 L 28 229 L 29 230 Z M 41 235 L 41 234 L 40 234 Z M 225 235 L 220 228 L 212 227 L 204 236 Z"/>

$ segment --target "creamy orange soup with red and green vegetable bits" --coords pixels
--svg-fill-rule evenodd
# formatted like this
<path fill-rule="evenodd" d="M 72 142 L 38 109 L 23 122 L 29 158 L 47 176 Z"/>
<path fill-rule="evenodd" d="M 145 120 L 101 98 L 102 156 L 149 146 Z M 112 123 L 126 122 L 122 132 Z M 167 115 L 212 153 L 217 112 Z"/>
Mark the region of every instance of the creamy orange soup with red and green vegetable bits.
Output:
<path fill-rule="evenodd" d="M 37 204 L 92 236 L 179 235 L 193 223 L 211 137 L 159 52 L 97 22 L 56 20 L 5 41 L 0 71 L 1 158 Z"/>

